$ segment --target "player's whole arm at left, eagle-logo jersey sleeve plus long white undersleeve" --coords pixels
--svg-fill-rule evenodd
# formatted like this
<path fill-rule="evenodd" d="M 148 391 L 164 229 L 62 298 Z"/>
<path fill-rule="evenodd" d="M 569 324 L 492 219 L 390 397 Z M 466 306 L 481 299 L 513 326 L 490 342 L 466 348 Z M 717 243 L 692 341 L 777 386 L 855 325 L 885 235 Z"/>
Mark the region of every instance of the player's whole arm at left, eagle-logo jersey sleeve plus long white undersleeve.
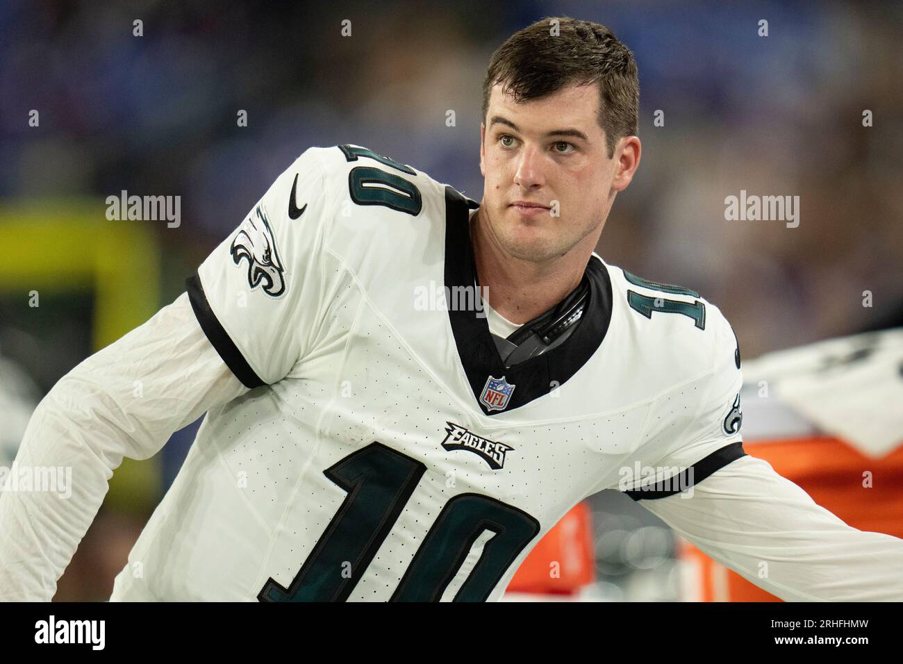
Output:
<path fill-rule="evenodd" d="M 70 467 L 71 496 L 0 491 L 0 599 L 51 600 L 123 457 L 154 455 L 174 431 L 283 379 L 303 356 L 329 216 L 323 152 L 311 148 L 276 179 L 186 293 L 42 399 L 15 464 Z"/>

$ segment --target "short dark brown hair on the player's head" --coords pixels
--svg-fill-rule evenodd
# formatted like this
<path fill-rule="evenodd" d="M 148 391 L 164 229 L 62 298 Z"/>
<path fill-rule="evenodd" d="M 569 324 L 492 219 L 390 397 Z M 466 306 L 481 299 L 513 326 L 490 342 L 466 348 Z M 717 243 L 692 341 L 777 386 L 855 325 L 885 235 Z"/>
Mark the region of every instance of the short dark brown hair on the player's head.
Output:
<path fill-rule="evenodd" d="M 557 22 L 557 34 L 554 33 Z M 599 126 L 609 158 L 623 136 L 635 136 L 639 117 L 637 61 L 611 30 L 568 16 L 540 19 L 507 38 L 489 60 L 483 79 L 483 122 L 492 87 L 502 84 L 516 102 L 544 97 L 569 85 L 599 82 Z"/>

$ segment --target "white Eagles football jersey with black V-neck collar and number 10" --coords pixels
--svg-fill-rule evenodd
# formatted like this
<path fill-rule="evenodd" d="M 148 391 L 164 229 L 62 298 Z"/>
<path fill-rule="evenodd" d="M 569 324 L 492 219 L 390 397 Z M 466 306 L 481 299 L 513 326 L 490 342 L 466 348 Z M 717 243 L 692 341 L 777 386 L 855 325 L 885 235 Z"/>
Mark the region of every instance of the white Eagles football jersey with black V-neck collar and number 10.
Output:
<path fill-rule="evenodd" d="M 251 389 L 209 410 L 111 599 L 498 600 L 580 500 L 744 454 L 721 312 L 595 254 L 571 337 L 506 369 L 459 306 L 477 207 L 358 145 L 277 178 L 188 280 Z"/>

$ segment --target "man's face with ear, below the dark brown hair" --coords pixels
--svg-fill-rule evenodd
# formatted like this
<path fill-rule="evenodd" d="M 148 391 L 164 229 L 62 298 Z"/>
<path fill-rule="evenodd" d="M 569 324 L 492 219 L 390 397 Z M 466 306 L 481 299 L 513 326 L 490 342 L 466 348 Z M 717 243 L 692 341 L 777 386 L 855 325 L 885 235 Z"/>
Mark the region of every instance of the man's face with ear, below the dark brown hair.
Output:
<path fill-rule="evenodd" d="M 501 85 L 491 90 L 480 126 L 480 213 L 510 256 L 543 262 L 581 242 L 595 246 L 615 194 L 639 164 L 635 136 L 622 138 L 609 158 L 599 105 L 598 83 L 520 104 Z"/>

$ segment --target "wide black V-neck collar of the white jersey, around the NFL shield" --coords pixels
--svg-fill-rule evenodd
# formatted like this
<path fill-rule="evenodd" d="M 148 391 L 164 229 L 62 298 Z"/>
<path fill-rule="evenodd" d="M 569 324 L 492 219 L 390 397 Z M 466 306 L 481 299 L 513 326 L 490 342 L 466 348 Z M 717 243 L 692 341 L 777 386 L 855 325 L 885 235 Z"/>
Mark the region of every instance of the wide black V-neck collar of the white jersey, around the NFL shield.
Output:
<path fill-rule="evenodd" d="M 465 198 L 450 186 L 445 187 L 445 286 L 448 289 L 473 288 L 476 267 L 468 221 L 470 209 L 477 207 L 476 201 Z M 585 276 L 590 282 L 589 301 L 571 337 L 561 346 L 508 369 L 498 355 L 486 318 L 480 318 L 473 310 L 449 306 L 458 355 L 477 406 L 484 414 L 506 413 L 545 396 L 570 379 L 599 348 L 611 320 L 611 281 L 604 264 L 594 256 L 587 263 Z M 480 401 L 490 377 L 505 377 L 514 386 L 503 409 L 490 410 Z"/>

